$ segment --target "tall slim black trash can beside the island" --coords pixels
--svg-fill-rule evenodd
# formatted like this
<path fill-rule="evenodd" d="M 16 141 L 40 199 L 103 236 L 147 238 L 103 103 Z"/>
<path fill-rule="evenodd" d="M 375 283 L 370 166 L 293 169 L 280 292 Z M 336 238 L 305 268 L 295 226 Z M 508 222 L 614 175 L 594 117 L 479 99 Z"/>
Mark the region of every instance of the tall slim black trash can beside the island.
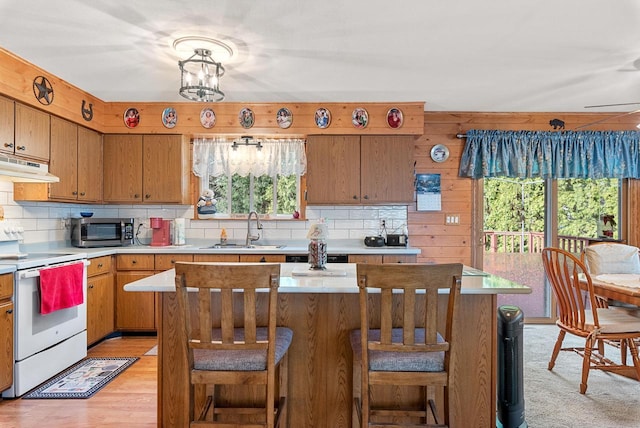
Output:
<path fill-rule="evenodd" d="M 517 306 L 498 308 L 498 428 L 527 428 L 524 418 L 524 315 Z"/>

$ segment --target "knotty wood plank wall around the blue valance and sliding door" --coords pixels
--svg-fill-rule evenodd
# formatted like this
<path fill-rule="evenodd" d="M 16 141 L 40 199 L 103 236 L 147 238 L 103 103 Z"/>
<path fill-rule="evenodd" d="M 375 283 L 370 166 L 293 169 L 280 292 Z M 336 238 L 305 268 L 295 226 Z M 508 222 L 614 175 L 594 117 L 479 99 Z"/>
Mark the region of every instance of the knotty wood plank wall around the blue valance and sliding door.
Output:
<path fill-rule="evenodd" d="M 640 114 L 621 116 L 621 113 L 424 113 L 424 133 L 416 139 L 416 172 L 441 174 L 442 210 L 417 211 L 415 204 L 409 207 L 409 242 L 422 250 L 418 256 L 419 262 L 462 262 L 473 265 L 472 209 L 473 200 L 477 195 L 474 194 L 473 180 L 458 177 L 465 139 L 457 138 L 456 134 L 464 134 L 469 129 L 549 131 L 553 130 L 549 125 L 552 119 L 564 121 L 565 130 L 575 130 L 583 125 L 602 121 L 580 129 L 637 131 Z M 450 156 L 447 161 L 436 163 L 431 160 L 429 153 L 436 144 L 444 144 L 449 148 Z M 636 213 L 640 209 L 639 180 L 630 181 L 626 197 L 627 242 L 630 245 L 638 245 L 640 227 Z M 459 214 L 460 224 L 445 225 L 446 214 Z M 478 215 L 481 225 L 482 212 Z"/>

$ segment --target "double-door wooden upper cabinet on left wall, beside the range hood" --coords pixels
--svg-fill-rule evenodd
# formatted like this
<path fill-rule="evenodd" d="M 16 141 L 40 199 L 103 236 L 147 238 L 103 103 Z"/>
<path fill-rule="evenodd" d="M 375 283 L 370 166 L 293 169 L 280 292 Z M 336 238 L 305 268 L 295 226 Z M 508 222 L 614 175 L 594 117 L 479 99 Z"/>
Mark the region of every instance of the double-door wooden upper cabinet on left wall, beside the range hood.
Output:
<path fill-rule="evenodd" d="M 52 116 L 49 172 L 60 181 L 50 184 L 14 183 L 14 200 L 100 202 L 102 136 Z"/>

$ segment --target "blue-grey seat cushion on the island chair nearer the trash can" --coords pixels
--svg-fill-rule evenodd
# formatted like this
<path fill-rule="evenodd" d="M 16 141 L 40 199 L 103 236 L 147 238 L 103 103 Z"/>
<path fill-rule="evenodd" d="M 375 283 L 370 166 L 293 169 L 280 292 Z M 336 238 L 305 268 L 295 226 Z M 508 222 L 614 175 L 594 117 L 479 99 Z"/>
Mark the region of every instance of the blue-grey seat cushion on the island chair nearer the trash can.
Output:
<path fill-rule="evenodd" d="M 391 330 L 394 343 L 402 343 L 402 329 Z M 424 343 L 424 328 L 415 329 L 416 342 Z M 370 329 L 369 340 L 380 340 L 380 330 Z M 438 342 L 444 339 L 438 333 Z M 354 359 L 362 359 L 362 334 L 360 330 L 351 332 L 351 348 Z M 369 369 L 381 372 L 441 372 L 444 371 L 444 352 L 388 352 L 371 351 L 369 353 Z"/>

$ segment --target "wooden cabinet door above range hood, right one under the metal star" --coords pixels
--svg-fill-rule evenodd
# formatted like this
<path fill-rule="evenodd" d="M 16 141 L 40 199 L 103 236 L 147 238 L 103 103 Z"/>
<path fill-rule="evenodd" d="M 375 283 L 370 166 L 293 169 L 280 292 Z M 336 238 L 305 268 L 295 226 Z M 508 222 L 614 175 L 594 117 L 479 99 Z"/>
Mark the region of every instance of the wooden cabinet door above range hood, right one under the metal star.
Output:
<path fill-rule="evenodd" d="M 13 153 L 21 157 L 48 161 L 51 117 L 20 103 L 15 103 L 15 109 Z M 9 150 L 6 151 L 11 153 Z"/>

